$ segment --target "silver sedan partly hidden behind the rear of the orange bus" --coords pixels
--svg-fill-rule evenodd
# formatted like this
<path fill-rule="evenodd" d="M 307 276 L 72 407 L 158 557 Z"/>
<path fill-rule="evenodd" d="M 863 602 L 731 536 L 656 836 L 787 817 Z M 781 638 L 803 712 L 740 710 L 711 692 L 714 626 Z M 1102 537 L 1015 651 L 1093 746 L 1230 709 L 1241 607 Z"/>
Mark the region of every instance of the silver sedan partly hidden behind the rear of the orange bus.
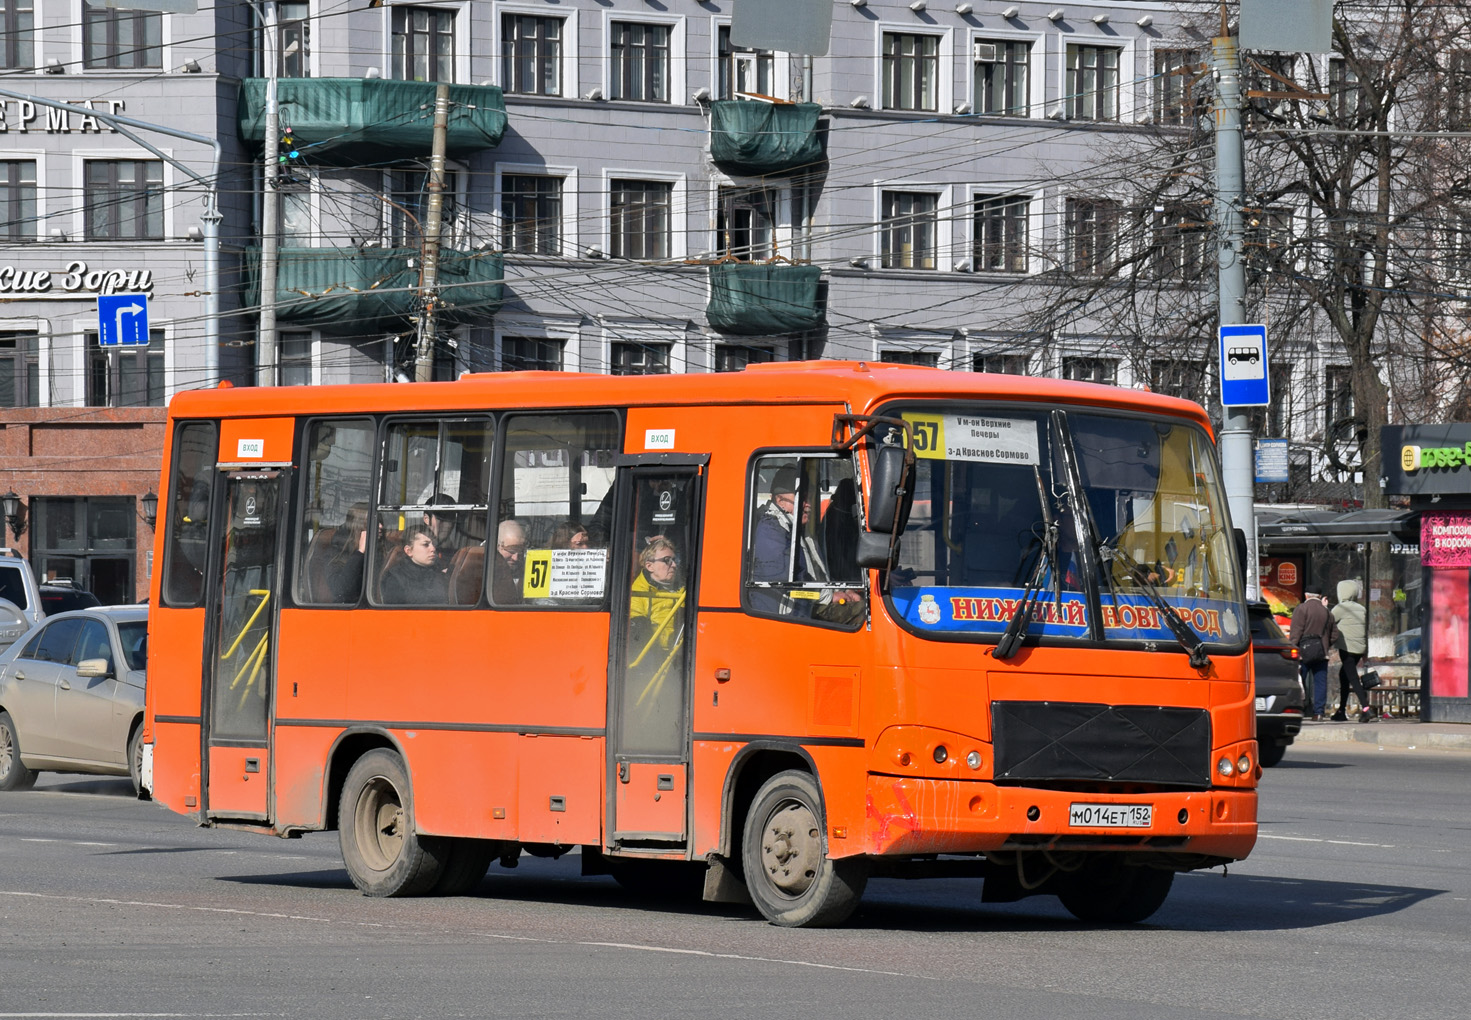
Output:
<path fill-rule="evenodd" d="M 149 606 L 47 617 L 0 655 L 0 790 L 38 771 L 131 776 L 141 790 Z"/>

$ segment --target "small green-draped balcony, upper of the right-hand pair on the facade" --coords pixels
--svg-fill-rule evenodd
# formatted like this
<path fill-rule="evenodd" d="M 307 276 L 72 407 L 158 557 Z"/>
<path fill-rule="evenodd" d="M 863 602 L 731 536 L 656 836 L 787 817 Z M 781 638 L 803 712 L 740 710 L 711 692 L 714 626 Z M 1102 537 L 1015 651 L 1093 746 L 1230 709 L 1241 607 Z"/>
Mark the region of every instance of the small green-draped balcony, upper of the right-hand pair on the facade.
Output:
<path fill-rule="evenodd" d="M 710 103 L 710 159 L 727 174 L 762 177 L 822 162 L 818 103 Z"/>

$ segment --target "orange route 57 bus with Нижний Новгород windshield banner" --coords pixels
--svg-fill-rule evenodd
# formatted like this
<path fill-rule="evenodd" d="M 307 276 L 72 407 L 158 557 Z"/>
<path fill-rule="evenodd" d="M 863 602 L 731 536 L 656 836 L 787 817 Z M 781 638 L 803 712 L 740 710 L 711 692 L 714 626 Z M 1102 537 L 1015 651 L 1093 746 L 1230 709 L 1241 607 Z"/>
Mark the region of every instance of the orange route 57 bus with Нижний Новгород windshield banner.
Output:
<path fill-rule="evenodd" d="M 1244 543 L 1184 400 L 863 362 L 177 396 L 144 768 L 368 895 L 580 848 L 836 924 L 1141 920 L 1246 857 Z"/>

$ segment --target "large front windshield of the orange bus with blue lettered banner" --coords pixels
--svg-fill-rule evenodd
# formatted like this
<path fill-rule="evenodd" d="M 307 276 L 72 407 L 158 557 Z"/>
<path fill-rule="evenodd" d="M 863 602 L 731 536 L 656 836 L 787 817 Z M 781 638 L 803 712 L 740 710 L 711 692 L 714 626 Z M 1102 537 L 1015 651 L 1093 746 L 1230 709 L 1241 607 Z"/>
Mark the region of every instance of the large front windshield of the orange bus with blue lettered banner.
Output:
<path fill-rule="evenodd" d="M 912 630 L 996 640 L 1022 612 L 1043 640 L 1240 649 L 1242 578 L 1203 430 L 1003 405 L 899 414 L 918 475 L 890 598 Z"/>

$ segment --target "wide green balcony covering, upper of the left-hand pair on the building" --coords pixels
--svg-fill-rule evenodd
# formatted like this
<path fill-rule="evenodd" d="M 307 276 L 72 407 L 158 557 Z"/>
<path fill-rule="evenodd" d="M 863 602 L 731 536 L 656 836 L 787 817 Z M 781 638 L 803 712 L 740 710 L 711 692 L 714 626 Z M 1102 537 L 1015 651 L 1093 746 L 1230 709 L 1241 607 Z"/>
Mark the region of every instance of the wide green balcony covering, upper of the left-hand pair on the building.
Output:
<path fill-rule="evenodd" d="M 307 163 L 352 165 L 428 157 L 434 82 L 387 78 L 278 78 L 281 130 Z M 240 82 L 240 137 L 260 147 L 266 79 Z M 450 85 L 447 153 L 460 159 L 500 144 L 506 102 L 496 85 Z"/>

